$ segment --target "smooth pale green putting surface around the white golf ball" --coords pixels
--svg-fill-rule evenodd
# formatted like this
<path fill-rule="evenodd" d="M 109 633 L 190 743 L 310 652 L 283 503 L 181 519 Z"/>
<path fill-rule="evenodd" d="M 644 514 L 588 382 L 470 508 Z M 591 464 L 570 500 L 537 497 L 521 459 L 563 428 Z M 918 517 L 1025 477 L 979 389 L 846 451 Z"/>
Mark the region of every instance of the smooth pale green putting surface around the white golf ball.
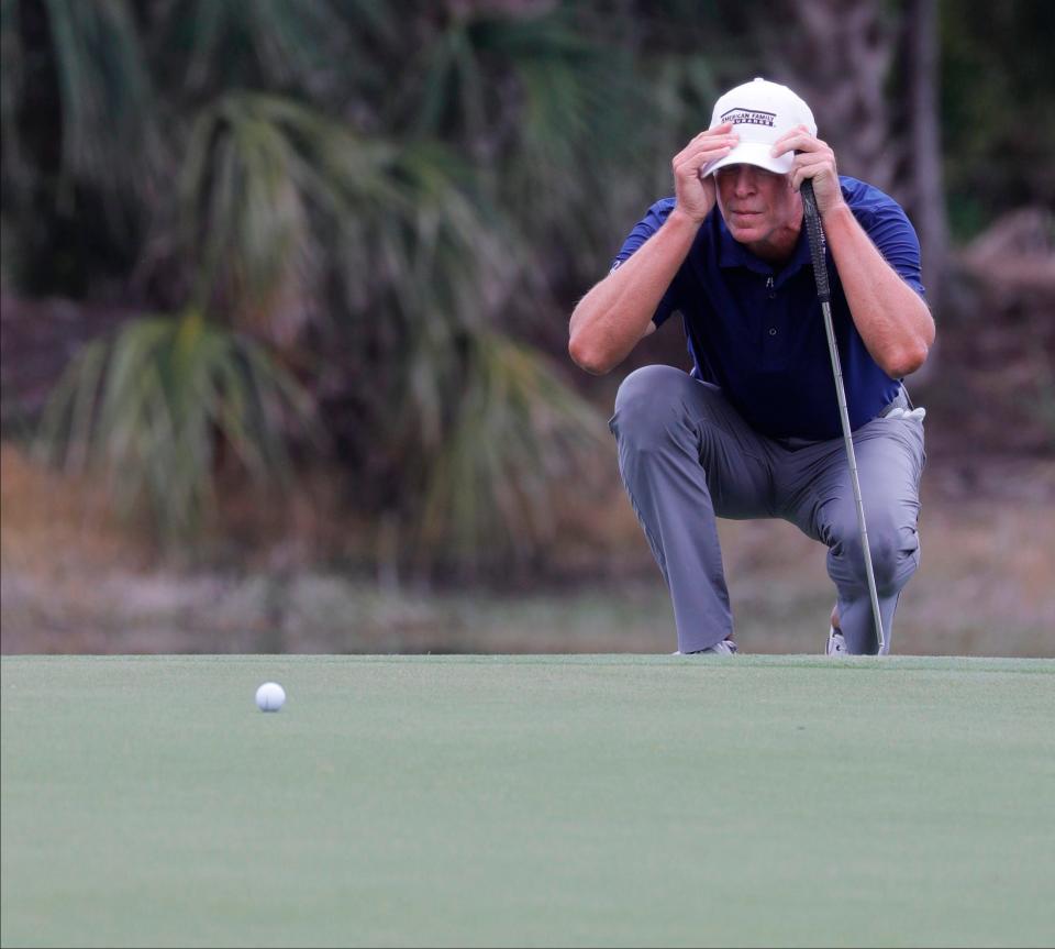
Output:
<path fill-rule="evenodd" d="M 2 942 L 1050 945 L 1053 799 L 1051 660 L 4 658 Z"/>

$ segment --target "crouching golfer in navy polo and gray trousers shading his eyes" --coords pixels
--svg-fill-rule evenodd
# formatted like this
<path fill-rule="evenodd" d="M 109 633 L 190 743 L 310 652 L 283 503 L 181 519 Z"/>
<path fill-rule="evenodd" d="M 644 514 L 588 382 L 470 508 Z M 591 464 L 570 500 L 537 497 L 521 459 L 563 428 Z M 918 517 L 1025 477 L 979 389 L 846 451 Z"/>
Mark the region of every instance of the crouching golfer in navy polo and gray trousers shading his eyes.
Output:
<path fill-rule="evenodd" d="M 692 369 L 652 365 L 619 388 L 611 430 L 631 504 L 670 591 L 678 652 L 736 642 L 715 517 L 784 518 L 828 548 L 826 652 L 878 649 L 847 454 L 799 187 L 826 235 L 832 317 L 887 642 L 920 558 L 922 410 L 902 377 L 934 341 L 920 245 L 882 191 L 840 176 L 801 98 L 765 79 L 714 106 L 571 315 L 569 352 L 607 373 L 673 313 Z"/>

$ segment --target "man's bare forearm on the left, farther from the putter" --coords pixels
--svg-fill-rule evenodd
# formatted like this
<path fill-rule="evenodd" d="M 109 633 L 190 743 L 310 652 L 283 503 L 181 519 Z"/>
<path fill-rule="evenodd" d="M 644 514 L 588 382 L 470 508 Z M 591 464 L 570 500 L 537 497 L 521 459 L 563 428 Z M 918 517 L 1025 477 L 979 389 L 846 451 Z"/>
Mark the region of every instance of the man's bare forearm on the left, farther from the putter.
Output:
<path fill-rule="evenodd" d="M 618 366 L 648 333 L 659 300 L 685 262 L 699 223 L 675 208 L 621 267 L 579 301 L 571 313 L 568 352 L 581 368 L 601 375 Z"/>

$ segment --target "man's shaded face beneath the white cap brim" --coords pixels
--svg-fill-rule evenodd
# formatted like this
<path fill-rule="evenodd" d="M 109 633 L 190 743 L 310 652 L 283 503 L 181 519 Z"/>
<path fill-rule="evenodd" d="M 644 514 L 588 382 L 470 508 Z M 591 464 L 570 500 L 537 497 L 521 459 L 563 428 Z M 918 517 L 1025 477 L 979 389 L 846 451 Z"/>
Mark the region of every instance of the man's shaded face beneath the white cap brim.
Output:
<path fill-rule="evenodd" d="M 787 175 L 757 165 L 726 165 L 714 175 L 730 234 L 759 256 L 790 253 L 802 224 L 802 202 Z"/>

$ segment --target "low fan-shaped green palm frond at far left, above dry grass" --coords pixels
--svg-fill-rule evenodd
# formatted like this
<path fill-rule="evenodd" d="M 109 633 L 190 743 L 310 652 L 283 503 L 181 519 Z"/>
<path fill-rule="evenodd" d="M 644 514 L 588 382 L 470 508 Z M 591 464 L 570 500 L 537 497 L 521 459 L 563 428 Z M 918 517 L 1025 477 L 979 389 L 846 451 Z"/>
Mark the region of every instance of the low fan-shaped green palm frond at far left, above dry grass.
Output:
<path fill-rule="evenodd" d="M 49 399 L 38 446 L 68 467 L 100 467 L 115 507 L 145 509 L 173 542 L 201 526 L 218 465 L 288 482 L 292 421 L 318 434 L 300 385 L 258 343 L 189 311 L 132 320 L 86 346 Z"/>

